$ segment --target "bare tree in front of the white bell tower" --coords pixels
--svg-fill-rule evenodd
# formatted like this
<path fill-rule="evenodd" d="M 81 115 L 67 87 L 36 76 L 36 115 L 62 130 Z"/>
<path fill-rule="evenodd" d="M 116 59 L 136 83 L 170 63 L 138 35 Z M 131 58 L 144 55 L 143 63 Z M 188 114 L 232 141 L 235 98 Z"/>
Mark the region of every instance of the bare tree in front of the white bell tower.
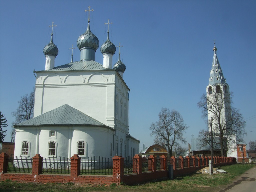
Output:
<path fill-rule="evenodd" d="M 239 110 L 231 107 L 231 96 L 232 93 L 226 93 L 223 89 L 218 92 L 212 90 L 209 95 L 203 94 L 197 103 L 202 109 L 202 117 L 207 118 L 207 125 L 213 127 L 213 140 L 220 146 L 222 156 L 225 145 L 234 143 L 236 139 L 242 141 L 243 135 L 246 134 L 244 131 L 246 122 Z M 211 119 L 208 119 L 209 116 Z"/>

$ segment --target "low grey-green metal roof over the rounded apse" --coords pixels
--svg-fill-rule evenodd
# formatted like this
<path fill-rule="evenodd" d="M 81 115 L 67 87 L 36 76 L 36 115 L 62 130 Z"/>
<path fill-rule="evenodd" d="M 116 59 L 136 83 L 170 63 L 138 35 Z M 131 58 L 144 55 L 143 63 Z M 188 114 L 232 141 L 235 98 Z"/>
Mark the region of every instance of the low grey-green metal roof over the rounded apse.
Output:
<path fill-rule="evenodd" d="M 28 125 L 104 125 L 90 116 L 65 104 L 16 126 Z"/>

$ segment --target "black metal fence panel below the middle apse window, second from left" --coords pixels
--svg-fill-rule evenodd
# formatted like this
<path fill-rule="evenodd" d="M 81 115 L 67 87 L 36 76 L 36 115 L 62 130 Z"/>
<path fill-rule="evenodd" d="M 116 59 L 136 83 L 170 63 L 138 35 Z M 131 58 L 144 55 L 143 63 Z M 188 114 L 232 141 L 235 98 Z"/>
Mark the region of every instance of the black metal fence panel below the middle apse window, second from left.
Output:
<path fill-rule="evenodd" d="M 43 159 L 43 173 L 70 174 L 71 161 L 65 157 L 48 157 Z"/>

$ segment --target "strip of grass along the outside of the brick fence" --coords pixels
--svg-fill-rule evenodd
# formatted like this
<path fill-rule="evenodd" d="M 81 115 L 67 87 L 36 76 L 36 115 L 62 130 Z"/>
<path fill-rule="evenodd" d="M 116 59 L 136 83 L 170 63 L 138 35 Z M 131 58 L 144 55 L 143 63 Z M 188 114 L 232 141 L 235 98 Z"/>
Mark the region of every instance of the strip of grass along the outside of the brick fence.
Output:
<path fill-rule="evenodd" d="M 136 186 L 126 186 L 124 183 L 117 186 L 112 184 L 110 186 L 98 186 L 98 185 L 74 185 L 73 183 L 67 184 L 31 184 L 31 183 L 18 183 L 18 182 L 0 182 L 1 192 L 66 192 L 66 191 L 216 191 L 216 188 L 220 188 L 223 185 L 227 185 L 233 181 L 233 179 L 252 167 L 256 167 L 252 164 L 236 164 L 230 166 L 223 166 L 221 169 L 228 172 L 228 174 L 192 174 L 184 177 L 176 177 L 174 180 L 165 180 L 144 183 Z"/>

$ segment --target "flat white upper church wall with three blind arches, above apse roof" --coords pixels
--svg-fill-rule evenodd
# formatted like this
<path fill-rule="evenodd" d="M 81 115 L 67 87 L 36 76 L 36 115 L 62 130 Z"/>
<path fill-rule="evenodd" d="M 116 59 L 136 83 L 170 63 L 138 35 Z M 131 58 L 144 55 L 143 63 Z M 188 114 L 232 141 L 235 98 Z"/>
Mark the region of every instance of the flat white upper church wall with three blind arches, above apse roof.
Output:
<path fill-rule="evenodd" d="M 115 71 L 100 72 L 37 72 L 34 117 L 68 104 L 114 127 Z"/>

